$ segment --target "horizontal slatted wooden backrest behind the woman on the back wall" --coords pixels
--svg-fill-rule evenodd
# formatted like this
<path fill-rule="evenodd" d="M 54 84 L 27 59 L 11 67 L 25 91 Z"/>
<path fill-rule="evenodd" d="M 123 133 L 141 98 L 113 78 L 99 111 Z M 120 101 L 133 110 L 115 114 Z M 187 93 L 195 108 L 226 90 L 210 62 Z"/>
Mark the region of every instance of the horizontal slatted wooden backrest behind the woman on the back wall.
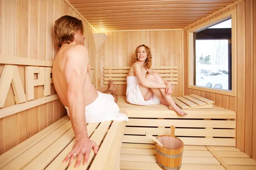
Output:
<path fill-rule="evenodd" d="M 104 84 L 108 84 L 108 80 L 112 79 L 115 85 L 126 85 L 126 77 L 130 66 L 123 67 L 104 67 Z M 152 67 L 154 72 L 160 74 L 161 77 L 171 82 L 172 85 L 178 84 L 178 68 L 175 66 L 156 66 Z"/>

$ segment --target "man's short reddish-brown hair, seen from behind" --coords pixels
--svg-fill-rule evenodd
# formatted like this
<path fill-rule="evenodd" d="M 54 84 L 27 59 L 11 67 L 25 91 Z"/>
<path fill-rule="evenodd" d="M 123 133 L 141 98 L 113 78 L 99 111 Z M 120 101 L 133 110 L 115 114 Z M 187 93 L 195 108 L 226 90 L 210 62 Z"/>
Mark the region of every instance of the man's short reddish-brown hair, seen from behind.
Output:
<path fill-rule="evenodd" d="M 74 41 L 75 33 L 80 31 L 84 34 L 84 26 L 81 20 L 64 15 L 55 21 L 54 24 L 54 39 L 58 47 L 61 47 L 62 43 L 69 44 Z"/>

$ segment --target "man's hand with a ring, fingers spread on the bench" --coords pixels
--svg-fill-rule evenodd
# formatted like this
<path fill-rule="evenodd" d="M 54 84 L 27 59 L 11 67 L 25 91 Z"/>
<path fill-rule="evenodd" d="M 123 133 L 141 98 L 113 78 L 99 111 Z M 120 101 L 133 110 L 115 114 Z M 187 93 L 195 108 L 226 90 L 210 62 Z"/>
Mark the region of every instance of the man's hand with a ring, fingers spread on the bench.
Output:
<path fill-rule="evenodd" d="M 90 151 L 93 148 L 94 153 L 96 154 L 99 150 L 99 147 L 95 142 L 90 140 L 89 138 L 81 138 L 77 140 L 73 146 L 73 150 L 67 155 L 67 157 L 64 159 L 63 163 L 67 162 L 68 159 L 70 159 L 68 163 L 68 167 L 73 162 L 73 160 L 76 158 L 76 165 L 75 168 L 80 166 L 81 159 L 84 155 L 84 162 L 83 165 L 85 165 L 89 159 Z"/>

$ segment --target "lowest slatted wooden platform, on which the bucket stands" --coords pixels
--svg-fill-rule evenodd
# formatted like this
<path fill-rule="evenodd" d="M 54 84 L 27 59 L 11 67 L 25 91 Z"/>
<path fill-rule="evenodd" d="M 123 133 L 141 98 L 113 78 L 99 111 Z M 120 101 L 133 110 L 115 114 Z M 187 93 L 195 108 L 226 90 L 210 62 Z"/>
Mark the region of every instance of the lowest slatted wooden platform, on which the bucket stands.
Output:
<path fill-rule="evenodd" d="M 184 146 L 180 170 L 256 170 L 256 161 L 236 147 Z M 122 143 L 120 170 L 161 170 L 154 144 Z"/>

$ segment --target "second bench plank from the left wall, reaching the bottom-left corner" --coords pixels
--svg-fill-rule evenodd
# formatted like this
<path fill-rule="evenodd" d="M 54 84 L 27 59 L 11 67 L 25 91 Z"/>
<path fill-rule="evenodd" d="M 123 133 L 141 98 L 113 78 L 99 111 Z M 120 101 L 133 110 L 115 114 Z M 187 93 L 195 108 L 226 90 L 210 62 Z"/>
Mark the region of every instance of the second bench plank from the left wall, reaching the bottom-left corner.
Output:
<path fill-rule="evenodd" d="M 3 170 L 20 169 L 25 167 L 30 161 L 35 159 L 36 156 L 46 150 L 52 143 L 70 130 L 70 128 L 72 128 L 72 126 L 71 122 L 69 121 L 35 144 L 33 147 L 23 152 L 19 157 L 6 164 L 3 167 Z"/>

